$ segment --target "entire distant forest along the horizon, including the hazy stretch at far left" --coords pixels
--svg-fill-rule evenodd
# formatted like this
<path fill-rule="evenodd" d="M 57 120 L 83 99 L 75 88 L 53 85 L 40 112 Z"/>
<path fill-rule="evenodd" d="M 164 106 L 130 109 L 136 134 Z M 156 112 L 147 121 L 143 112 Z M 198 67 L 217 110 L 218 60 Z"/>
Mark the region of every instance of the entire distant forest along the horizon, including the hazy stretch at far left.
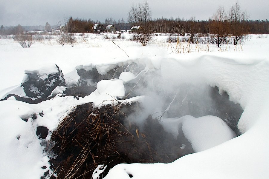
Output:
<path fill-rule="evenodd" d="M 184 35 L 185 33 L 212 33 L 210 31 L 210 24 L 212 20 L 197 21 L 194 18 L 185 20 L 180 18 L 157 18 L 149 22 L 150 29 L 154 33 L 175 33 L 178 35 Z M 91 33 L 92 26 L 100 21 L 93 21 L 91 19 L 81 18 L 68 18 L 68 20 L 62 24 L 65 26 L 67 33 Z M 223 22 L 225 23 L 225 22 Z M 244 26 L 245 34 L 265 34 L 269 33 L 269 21 L 268 20 L 245 20 L 240 21 Z M 132 27 L 132 24 L 125 22 L 123 19 L 117 22 L 113 18 L 106 18 L 105 22 L 102 23 L 105 27 L 107 25 L 114 25 L 117 30 L 127 30 Z M 46 24 L 47 25 L 47 24 Z M 51 30 L 59 30 L 58 25 L 51 26 Z M 24 31 L 38 31 L 45 30 L 46 26 L 15 26 L 15 27 L 4 27 L 1 26 L 1 35 L 18 34 Z"/>

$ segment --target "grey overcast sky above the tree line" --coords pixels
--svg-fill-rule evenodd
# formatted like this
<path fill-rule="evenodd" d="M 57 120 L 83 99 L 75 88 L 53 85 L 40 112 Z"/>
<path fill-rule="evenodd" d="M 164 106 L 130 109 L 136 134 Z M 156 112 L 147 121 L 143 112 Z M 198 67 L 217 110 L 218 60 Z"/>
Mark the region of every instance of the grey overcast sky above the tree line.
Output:
<path fill-rule="evenodd" d="M 51 25 L 63 21 L 64 17 L 91 18 L 104 22 L 105 18 L 124 19 L 132 3 L 143 0 L 0 0 L 0 25 Z M 229 10 L 236 0 L 148 0 L 152 18 L 185 18 L 195 17 L 207 20 L 218 9 L 224 6 Z M 242 10 L 250 14 L 250 19 L 269 19 L 268 0 L 238 0 Z"/>

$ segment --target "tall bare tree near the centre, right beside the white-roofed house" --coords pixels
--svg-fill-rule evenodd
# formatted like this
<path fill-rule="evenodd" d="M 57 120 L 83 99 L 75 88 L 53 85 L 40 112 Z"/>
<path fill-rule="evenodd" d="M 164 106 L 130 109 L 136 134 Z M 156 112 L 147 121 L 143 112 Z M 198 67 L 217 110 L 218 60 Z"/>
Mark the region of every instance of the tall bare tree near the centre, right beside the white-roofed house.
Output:
<path fill-rule="evenodd" d="M 151 10 L 149 4 L 145 1 L 143 4 L 132 4 L 129 10 L 128 22 L 135 26 L 134 40 L 140 42 L 143 46 L 149 43 L 153 37 L 150 30 Z M 140 28 L 139 28 L 140 27 Z"/>

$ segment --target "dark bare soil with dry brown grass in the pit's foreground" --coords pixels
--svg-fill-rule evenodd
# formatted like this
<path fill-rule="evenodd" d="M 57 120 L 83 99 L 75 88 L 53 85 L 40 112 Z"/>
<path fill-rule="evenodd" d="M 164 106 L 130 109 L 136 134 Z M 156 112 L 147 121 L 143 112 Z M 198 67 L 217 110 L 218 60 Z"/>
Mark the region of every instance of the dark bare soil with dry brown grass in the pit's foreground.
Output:
<path fill-rule="evenodd" d="M 90 103 L 78 106 L 52 135 L 58 157 L 50 162 L 57 178 L 91 178 L 100 164 L 107 166 L 105 176 L 119 163 L 170 163 L 193 153 L 183 134 L 173 138 L 156 119 L 148 117 L 143 127 L 130 122 L 128 115 L 138 111 L 137 103 L 100 109 Z M 183 143 L 187 147 L 180 149 Z"/>

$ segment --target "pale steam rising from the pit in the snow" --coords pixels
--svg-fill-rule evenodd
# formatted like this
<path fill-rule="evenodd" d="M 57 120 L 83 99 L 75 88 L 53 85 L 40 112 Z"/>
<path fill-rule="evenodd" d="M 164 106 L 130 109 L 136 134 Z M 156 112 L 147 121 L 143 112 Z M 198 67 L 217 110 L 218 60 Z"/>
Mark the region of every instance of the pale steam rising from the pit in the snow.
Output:
<path fill-rule="evenodd" d="M 175 125 L 175 121 L 186 115 L 193 116 L 192 118 L 207 115 L 217 116 L 236 135 L 240 135 L 237 123 L 243 112 L 242 108 L 231 102 L 226 92 L 220 94 L 218 87 L 206 84 L 201 74 L 190 72 L 184 74 L 179 70 L 181 70 L 180 64 L 173 60 L 167 60 L 161 65 L 161 69 L 153 67 L 147 69 L 146 67 L 146 70 L 141 71 L 136 78 L 125 81 L 125 96 L 130 98 L 129 101 L 132 101 L 136 96 L 145 95 L 141 97 L 143 100 L 140 100 L 142 109 L 129 115 L 129 121 L 134 122 L 140 130 L 143 130 L 146 119 L 152 116 L 178 140 L 178 149 L 184 149 L 186 146 L 191 147 L 188 143 L 191 141 L 189 138 L 186 140 L 186 132 L 182 130 L 182 123 L 179 122 Z M 199 69 L 196 70 L 199 71 Z M 219 118 L 212 118 L 212 120 L 218 121 Z M 203 120 L 205 121 L 204 125 L 207 125 L 205 118 L 200 120 L 201 124 L 203 124 Z M 167 123 L 167 121 L 169 122 Z M 212 128 L 210 123 L 208 124 L 209 126 L 205 126 L 207 130 L 214 130 L 214 126 Z M 232 133 L 231 138 L 236 136 Z"/>

